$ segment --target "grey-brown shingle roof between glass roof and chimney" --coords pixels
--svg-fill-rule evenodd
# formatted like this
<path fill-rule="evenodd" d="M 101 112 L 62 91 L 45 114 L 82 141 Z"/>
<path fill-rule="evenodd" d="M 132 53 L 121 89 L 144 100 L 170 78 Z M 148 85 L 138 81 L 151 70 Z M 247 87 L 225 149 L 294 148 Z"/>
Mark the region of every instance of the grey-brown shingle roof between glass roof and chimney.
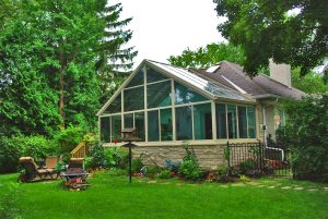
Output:
<path fill-rule="evenodd" d="M 206 70 L 196 70 L 196 72 L 199 76 L 212 78 L 232 89 L 245 90 L 256 99 L 269 96 L 300 99 L 305 96 L 305 93 L 294 87 L 288 87 L 263 74 L 250 78 L 244 73 L 241 65 L 229 61 L 220 62 L 220 68 L 213 73 Z"/>

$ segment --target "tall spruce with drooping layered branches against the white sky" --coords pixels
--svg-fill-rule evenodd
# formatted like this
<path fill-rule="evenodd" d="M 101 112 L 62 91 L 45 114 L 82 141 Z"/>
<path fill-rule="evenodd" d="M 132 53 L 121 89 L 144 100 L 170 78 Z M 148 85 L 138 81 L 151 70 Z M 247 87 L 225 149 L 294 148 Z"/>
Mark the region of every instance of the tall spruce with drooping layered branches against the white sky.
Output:
<path fill-rule="evenodd" d="M 105 20 L 106 28 L 105 36 L 101 44 L 101 54 L 96 63 L 98 78 L 101 82 L 101 102 L 108 100 L 122 83 L 126 76 L 129 75 L 133 65 L 133 58 L 138 54 L 134 47 L 124 48 L 131 37 L 130 29 L 124 31 L 132 19 L 119 21 L 119 14 L 122 11 L 120 3 L 105 7 L 103 19 Z"/>

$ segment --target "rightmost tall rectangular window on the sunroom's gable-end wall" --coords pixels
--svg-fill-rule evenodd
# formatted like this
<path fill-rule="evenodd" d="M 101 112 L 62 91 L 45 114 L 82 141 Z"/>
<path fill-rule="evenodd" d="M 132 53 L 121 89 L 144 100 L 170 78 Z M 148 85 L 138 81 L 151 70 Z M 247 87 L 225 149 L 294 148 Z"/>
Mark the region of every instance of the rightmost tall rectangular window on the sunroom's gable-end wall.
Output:
<path fill-rule="evenodd" d="M 211 104 L 194 106 L 195 139 L 212 139 Z"/>

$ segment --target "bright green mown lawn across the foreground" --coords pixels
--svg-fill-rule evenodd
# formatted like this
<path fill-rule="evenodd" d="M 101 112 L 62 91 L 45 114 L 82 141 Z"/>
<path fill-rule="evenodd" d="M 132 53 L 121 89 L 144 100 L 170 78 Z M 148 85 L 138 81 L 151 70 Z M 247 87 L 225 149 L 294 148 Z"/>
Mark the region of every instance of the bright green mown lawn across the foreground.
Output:
<path fill-rule="evenodd" d="M 5 197 L 16 174 L 0 175 L 0 198 Z M 328 218 L 328 192 L 281 190 L 254 185 L 221 187 L 178 180 L 157 181 L 108 173 L 96 174 L 87 191 L 62 190 L 61 181 L 21 183 L 16 207 L 23 218 Z M 168 184 L 162 184 L 166 182 Z M 327 186 L 292 180 L 261 179 L 261 184 Z M 7 196 L 10 197 L 10 196 Z"/>

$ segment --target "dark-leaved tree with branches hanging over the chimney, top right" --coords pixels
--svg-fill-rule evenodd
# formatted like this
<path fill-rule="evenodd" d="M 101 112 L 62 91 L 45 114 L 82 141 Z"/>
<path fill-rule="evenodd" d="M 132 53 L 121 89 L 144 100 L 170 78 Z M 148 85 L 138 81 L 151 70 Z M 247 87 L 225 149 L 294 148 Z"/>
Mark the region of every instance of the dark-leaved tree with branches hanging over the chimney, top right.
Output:
<path fill-rule="evenodd" d="M 301 68 L 301 75 L 328 54 L 328 1 L 214 0 L 222 35 L 245 51 L 245 71 L 255 76 L 273 58 Z M 293 13 L 298 10 L 300 13 Z"/>

